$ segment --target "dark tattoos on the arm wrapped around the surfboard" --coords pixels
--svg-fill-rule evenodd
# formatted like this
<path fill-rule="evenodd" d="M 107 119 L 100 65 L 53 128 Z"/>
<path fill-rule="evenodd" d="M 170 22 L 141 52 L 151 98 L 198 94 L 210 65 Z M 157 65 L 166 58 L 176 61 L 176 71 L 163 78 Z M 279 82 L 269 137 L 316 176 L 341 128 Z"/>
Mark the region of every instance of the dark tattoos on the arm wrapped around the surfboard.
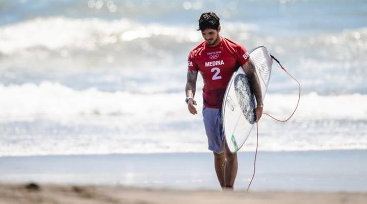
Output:
<path fill-rule="evenodd" d="M 251 59 L 243 65 L 243 69 L 249 79 L 251 92 L 255 95 L 257 106 L 262 106 L 263 94 L 261 93 L 261 85 L 257 77 L 255 65 Z"/>

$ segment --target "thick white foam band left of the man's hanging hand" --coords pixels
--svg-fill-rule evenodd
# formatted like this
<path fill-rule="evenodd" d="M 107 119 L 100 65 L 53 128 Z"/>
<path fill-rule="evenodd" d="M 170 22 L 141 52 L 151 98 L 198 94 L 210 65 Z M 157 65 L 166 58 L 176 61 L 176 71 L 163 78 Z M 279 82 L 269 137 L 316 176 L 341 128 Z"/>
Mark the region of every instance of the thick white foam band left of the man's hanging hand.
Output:
<path fill-rule="evenodd" d="M 30 118 L 73 118 L 84 115 L 117 115 L 165 117 L 175 111 L 182 94 L 134 94 L 102 92 L 94 88 L 76 91 L 58 83 L 0 86 L 7 99 L 2 100 L 3 120 Z M 162 113 L 162 114 L 161 114 Z"/>

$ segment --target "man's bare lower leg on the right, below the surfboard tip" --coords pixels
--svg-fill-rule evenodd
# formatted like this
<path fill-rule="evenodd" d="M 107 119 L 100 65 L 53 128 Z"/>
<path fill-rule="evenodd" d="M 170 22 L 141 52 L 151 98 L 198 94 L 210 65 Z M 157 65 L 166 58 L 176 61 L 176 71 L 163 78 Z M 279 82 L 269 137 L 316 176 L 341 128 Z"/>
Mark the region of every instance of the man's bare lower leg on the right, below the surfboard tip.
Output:
<path fill-rule="evenodd" d="M 238 169 L 237 153 L 232 154 L 226 143 L 224 147 L 224 155 L 226 157 L 226 164 L 224 170 L 225 187 L 231 190 L 233 189 L 234 180 L 235 177 L 237 176 L 237 169 Z"/>

